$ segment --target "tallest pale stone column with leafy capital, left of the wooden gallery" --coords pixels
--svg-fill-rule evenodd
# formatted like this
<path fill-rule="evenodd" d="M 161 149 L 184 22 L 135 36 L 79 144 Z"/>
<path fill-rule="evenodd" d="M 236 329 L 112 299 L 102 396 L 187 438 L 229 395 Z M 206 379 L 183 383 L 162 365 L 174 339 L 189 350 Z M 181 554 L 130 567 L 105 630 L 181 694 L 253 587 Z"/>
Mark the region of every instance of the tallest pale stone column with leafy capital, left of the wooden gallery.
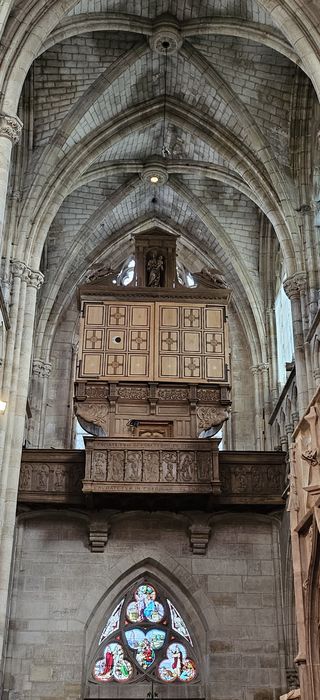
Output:
<path fill-rule="evenodd" d="M 2 473 L 2 532 L 0 555 L 0 656 L 6 636 L 10 569 L 14 541 L 25 410 L 29 387 L 30 360 L 37 289 L 43 275 L 24 266 L 19 295 L 11 389 Z"/>

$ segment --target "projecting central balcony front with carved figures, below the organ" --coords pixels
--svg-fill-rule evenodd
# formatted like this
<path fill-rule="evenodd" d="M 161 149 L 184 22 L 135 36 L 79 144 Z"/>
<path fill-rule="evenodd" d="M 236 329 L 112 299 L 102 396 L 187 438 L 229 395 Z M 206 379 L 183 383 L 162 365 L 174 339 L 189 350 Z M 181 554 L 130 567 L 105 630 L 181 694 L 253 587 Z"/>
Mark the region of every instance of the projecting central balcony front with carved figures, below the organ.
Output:
<path fill-rule="evenodd" d="M 84 493 L 219 493 L 218 441 L 86 439 Z"/>

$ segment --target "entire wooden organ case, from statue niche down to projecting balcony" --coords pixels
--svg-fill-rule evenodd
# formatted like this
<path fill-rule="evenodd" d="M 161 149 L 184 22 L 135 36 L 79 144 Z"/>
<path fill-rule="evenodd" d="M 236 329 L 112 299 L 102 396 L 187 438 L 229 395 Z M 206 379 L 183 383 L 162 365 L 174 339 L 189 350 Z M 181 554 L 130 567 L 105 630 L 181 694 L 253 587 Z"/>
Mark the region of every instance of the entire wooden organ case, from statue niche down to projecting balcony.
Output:
<path fill-rule="evenodd" d="M 183 284 L 176 240 L 137 235 L 129 284 L 100 269 L 79 290 L 75 411 L 94 433 L 85 493 L 220 492 L 219 441 L 208 438 L 231 403 L 231 292 L 212 269 Z"/>

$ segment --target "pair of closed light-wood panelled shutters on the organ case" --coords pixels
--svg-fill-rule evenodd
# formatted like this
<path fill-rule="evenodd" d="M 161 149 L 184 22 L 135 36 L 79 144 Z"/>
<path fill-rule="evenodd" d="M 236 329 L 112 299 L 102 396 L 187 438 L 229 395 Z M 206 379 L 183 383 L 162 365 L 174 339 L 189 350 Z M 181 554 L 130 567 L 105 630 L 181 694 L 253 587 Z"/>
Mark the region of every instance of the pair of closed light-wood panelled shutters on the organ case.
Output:
<path fill-rule="evenodd" d="M 226 333 L 223 306 L 88 302 L 79 378 L 227 382 Z"/>

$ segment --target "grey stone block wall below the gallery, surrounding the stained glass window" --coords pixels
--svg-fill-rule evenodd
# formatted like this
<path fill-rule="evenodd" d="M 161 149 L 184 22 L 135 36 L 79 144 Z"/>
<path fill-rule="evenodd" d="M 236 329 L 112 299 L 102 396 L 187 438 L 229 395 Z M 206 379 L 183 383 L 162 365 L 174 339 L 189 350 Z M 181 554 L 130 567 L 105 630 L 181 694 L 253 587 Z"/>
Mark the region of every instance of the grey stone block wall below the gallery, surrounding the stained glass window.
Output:
<path fill-rule="evenodd" d="M 187 515 L 111 518 L 103 553 L 89 549 L 84 513 L 20 516 L 5 697 L 145 698 L 146 684 L 88 683 L 108 613 L 142 575 L 170 594 L 188 625 L 200 682 L 156 688 L 159 698 L 278 700 L 285 692 L 278 519 L 216 514 L 204 556 L 192 554 Z"/>

